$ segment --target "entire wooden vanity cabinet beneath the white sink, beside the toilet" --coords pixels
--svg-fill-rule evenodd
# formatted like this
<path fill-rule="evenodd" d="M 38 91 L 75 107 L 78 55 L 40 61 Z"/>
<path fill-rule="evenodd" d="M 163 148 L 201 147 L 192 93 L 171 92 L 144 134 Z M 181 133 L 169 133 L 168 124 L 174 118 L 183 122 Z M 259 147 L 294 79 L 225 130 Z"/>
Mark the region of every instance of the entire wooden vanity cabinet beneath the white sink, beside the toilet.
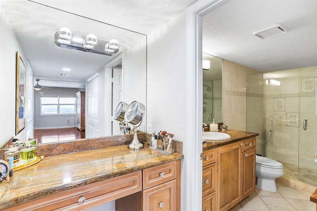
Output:
<path fill-rule="evenodd" d="M 230 210 L 254 192 L 255 162 L 256 138 L 203 152 L 202 211 Z"/>

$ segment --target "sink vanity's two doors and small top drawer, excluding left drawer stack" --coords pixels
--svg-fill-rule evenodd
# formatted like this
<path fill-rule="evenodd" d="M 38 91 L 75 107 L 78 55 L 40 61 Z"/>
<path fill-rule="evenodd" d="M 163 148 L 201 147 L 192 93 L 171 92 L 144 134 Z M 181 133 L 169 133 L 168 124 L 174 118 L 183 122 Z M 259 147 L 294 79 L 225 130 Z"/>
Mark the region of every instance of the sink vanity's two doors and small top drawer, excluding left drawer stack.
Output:
<path fill-rule="evenodd" d="M 229 210 L 255 191 L 256 138 L 216 149 L 216 210 Z"/>

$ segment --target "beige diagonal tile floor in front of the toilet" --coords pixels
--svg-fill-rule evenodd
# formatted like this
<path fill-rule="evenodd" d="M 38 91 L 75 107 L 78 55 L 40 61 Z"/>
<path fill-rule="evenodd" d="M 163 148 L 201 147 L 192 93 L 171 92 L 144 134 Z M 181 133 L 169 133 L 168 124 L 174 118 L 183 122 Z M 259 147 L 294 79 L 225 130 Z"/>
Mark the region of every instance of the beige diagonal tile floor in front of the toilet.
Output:
<path fill-rule="evenodd" d="M 316 204 L 310 202 L 312 193 L 299 191 L 279 182 L 276 185 L 277 192 L 257 188 L 230 211 L 316 211 Z"/>

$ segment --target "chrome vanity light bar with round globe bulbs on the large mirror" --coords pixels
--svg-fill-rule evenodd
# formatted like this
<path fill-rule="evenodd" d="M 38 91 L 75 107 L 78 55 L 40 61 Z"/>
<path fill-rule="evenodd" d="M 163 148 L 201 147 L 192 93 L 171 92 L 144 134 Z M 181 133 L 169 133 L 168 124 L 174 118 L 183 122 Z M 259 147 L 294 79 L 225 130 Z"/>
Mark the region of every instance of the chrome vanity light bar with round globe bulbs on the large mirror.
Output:
<path fill-rule="evenodd" d="M 109 42 L 106 42 L 98 40 L 94 34 L 88 34 L 86 37 L 75 35 L 66 27 L 60 28 L 55 33 L 54 42 L 61 48 L 103 55 L 118 53 L 120 48 L 117 40 L 111 39 Z"/>

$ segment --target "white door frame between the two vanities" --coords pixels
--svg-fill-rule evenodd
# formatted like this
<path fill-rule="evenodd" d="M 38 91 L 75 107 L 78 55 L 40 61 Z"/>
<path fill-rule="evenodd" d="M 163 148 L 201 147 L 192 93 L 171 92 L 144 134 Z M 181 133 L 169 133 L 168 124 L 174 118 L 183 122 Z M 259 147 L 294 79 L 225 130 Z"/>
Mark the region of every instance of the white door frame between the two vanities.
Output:
<path fill-rule="evenodd" d="M 186 210 L 202 210 L 203 151 L 203 72 L 202 70 L 202 17 L 229 0 L 199 0 L 186 10 L 187 43 L 187 141 L 186 157 Z M 196 140 L 196 141 L 193 141 Z M 187 159 L 188 158 L 188 159 Z M 184 185 L 182 185 L 184 187 Z"/>

